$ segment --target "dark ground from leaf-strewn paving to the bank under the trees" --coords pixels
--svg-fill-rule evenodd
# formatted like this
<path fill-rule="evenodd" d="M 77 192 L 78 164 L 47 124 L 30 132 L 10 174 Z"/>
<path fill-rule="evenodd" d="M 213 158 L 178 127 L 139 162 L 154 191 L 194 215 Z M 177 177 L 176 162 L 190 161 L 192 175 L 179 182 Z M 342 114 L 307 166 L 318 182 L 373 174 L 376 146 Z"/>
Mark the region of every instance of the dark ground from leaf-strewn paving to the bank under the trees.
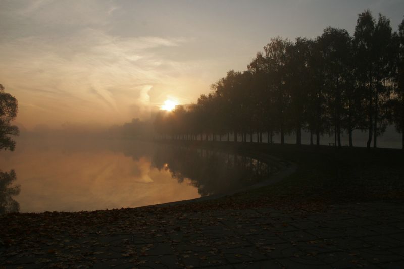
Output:
<path fill-rule="evenodd" d="M 218 200 L 2 216 L 0 268 L 404 267 L 402 151 L 204 146 L 298 168 Z"/>

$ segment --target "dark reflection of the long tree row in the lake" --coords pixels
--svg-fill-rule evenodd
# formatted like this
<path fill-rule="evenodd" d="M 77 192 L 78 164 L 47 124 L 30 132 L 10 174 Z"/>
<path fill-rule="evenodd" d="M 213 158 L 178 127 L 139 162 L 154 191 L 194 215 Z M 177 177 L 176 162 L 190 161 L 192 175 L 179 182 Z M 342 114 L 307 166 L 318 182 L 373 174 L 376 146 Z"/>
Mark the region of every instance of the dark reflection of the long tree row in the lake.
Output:
<path fill-rule="evenodd" d="M 159 170 L 168 170 L 180 183 L 189 179 L 201 196 L 253 185 L 277 170 L 247 156 L 174 146 L 159 147 L 153 165 Z"/>

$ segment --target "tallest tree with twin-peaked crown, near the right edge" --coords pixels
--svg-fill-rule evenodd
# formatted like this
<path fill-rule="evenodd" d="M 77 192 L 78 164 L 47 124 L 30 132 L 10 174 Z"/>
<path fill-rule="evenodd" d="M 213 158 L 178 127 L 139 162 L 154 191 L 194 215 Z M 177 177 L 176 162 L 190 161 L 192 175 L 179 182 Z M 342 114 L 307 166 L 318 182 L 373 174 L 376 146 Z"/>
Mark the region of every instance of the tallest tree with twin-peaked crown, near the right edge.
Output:
<path fill-rule="evenodd" d="M 358 65 L 356 76 L 359 86 L 366 89 L 368 141 L 370 148 L 377 147 L 377 135 L 385 129 L 385 115 L 380 107 L 389 99 L 392 73 L 393 49 L 390 20 L 379 14 L 376 23 L 371 12 L 359 14 L 354 34 L 355 60 Z"/>

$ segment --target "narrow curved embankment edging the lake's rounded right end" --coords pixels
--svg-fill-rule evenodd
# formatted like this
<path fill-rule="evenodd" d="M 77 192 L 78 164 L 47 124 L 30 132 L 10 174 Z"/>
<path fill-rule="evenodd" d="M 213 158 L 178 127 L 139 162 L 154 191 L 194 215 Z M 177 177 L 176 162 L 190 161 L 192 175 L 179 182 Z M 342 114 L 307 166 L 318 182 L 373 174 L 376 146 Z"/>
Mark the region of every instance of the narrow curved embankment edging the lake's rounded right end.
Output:
<path fill-rule="evenodd" d="M 167 143 L 167 142 L 164 142 Z M 178 204 L 184 204 L 184 203 L 190 203 L 190 202 L 200 202 L 200 201 L 206 201 L 206 200 L 214 200 L 214 199 L 219 199 L 225 196 L 230 196 L 236 193 L 252 190 L 252 189 L 257 189 L 263 186 L 268 186 L 271 184 L 274 184 L 276 182 L 279 182 L 280 180 L 290 176 L 293 174 L 296 169 L 297 165 L 295 163 L 289 162 L 287 160 L 283 160 L 280 158 L 277 158 L 275 156 L 272 156 L 268 153 L 260 152 L 254 149 L 248 149 L 248 148 L 243 148 L 240 146 L 234 146 L 233 143 L 210 143 L 210 142 L 204 142 L 204 141 L 179 141 L 179 142 L 169 142 L 169 144 L 173 145 L 181 145 L 181 146 L 189 146 L 192 148 L 209 148 L 209 149 L 217 149 L 217 150 L 222 150 L 222 151 L 232 151 L 233 153 L 238 153 L 240 155 L 245 155 L 248 157 L 252 157 L 255 159 L 258 159 L 260 161 L 263 161 L 268 164 L 273 164 L 279 168 L 279 170 L 272 174 L 269 178 L 262 180 L 254 185 L 247 186 L 241 189 L 229 191 L 226 193 L 221 193 L 221 194 L 214 194 L 214 195 L 209 195 L 205 197 L 200 197 L 200 198 L 195 198 L 195 199 L 189 199 L 189 200 L 182 200 L 182 201 L 176 201 L 176 202 L 169 202 L 169 203 L 162 203 L 162 204 L 156 204 L 156 205 L 148 205 L 148 206 L 143 206 L 143 207 L 149 207 L 149 206 L 155 206 L 155 207 L 166 207 L 166 206 L 173 206 L 173 205 L 178 205 Z"/>

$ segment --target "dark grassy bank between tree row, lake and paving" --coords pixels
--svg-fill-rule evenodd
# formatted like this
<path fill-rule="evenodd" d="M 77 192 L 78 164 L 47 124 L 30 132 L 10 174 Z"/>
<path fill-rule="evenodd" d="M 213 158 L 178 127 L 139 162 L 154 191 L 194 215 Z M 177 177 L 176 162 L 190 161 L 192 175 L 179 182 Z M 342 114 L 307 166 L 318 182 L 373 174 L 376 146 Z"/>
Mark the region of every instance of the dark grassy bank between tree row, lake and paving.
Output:
<path fill-rule="evenodd" d="M 404 199 L 404 151 L 291 144 L 210 141 L 161 141 L 187 147 L 272 156 L 296 165 L 294 173 L 274 184 L 214 201 L 237 207 L 321 209 L 330 204 Z M 244 202 L 248 201 L 248 202 Z"/>

